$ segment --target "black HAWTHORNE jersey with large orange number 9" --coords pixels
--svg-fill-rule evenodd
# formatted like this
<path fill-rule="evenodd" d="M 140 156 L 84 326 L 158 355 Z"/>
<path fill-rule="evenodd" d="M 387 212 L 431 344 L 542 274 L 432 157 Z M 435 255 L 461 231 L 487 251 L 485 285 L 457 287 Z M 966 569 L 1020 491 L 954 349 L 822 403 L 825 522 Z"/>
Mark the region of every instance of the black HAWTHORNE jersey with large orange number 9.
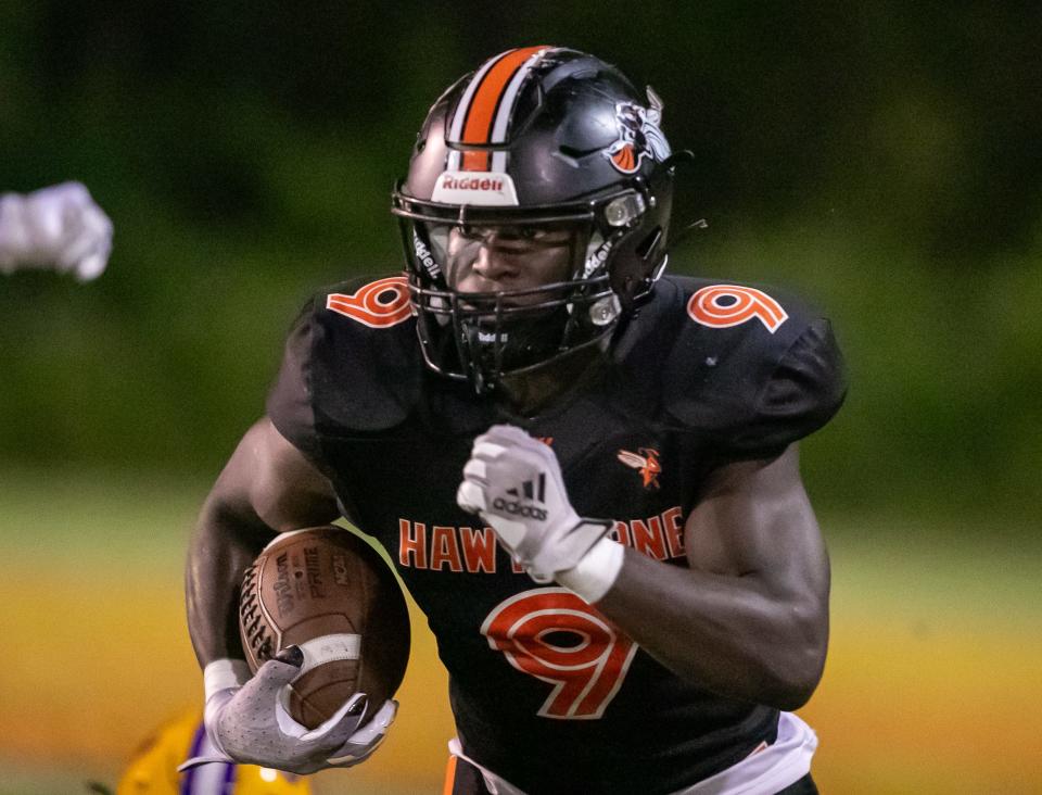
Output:
<path fill-rule="evenodd" d="M 422 362 L 404 278 L 309 303 L 268 401 L 425 613 L 463 749 L 533 793 L 670 792 L 772 742 L 777 711 L 655 661 L 595 608 L 517 568 L 456 504 L 474 437 L 549 444 L 581 516 L 685 566 L 684 522 L 721 465 L 779 454 L 842 402 L 827 320 L 775 291 L 666 277 L 599 376 L 516 417 Z M 408 705 L 406 705 L 408 708 Z"/>

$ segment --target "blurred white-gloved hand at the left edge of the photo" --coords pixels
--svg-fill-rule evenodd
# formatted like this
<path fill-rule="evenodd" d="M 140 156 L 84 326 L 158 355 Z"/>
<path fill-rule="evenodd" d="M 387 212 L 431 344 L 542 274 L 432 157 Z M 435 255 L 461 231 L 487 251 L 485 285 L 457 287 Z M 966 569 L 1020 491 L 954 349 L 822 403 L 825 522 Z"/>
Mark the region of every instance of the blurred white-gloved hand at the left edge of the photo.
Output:
<path fill-rule="evenodd" d="M 0 197 L 0 273 L 35 267 L 101 275 L 112 251 L 112 222 L 79 182 Z"/>

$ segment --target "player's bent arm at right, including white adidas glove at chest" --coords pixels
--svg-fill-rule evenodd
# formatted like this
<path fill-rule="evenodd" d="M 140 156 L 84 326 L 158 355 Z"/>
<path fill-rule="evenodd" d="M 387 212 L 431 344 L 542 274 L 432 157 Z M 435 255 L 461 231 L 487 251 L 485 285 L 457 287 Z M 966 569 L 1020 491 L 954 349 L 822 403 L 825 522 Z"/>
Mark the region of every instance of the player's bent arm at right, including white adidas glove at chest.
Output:
<path fill-rule="evenodd" d="M 543 484 L 539 509 L 511 514 L 510 484 Z M 606 538 L 580 517 L 557 456 L 512 426 L 474 442 L 457 500 L 480 513 L 538 582 L 557 580 L 663 665 L 720 695 L 783 709 L 817 684 L 828 636 L 828 560 L 796 446 L 720 468 L 689 516 L 690 568 Z"/>

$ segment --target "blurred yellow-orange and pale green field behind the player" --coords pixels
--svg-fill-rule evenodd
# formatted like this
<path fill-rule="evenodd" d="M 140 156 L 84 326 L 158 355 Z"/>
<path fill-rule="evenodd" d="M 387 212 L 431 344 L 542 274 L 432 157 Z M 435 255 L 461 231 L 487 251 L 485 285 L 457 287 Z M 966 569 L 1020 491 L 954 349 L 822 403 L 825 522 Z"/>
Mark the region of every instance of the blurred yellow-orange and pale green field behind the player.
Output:
<path fill-rule="evenodd" d="M 205 484 L 55 472 L 2 483 L 0 793 L 113 784 L 152 728 L 200 698 L 181 569 Z M 878 517 L 825 526 L 833 640 L 803 710 L 822 791 L 1042 793 L 1042 540 Z M 318 793 L 440 792 L 446 682 L 417 614 L 414 627 L 385 747 L 316 777 Z"/>

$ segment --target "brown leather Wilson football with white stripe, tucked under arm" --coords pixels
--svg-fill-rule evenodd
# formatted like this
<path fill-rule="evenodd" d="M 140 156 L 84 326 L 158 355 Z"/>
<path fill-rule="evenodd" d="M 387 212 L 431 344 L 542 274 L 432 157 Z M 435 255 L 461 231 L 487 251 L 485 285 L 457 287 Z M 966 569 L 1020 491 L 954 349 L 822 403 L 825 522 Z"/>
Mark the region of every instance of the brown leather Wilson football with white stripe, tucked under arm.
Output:
<path fill-rule="evenodd" d="M 288 708 L 314 729 L 355 693 L 374 711 L 391 698 L 409 659 L 409 614 L 390 567 L 339 527 L 282 533 L 246 570 L 239 631 L 250 670 L 287 646 L 304 653 Z"/>

